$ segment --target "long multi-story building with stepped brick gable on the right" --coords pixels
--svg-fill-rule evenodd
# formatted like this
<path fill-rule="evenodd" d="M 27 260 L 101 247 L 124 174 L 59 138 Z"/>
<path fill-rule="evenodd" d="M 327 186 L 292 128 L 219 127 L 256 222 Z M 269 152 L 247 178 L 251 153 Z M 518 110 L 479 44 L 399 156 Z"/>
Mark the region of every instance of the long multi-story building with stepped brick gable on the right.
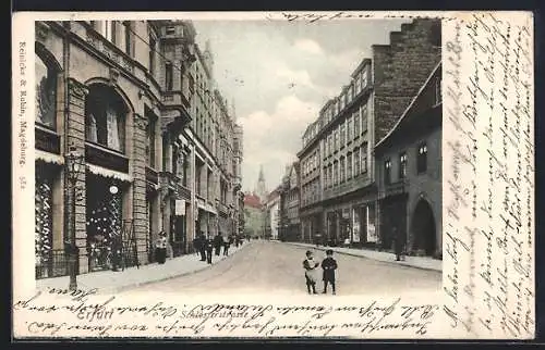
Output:
<path fill-rule="evenodd" d="M 298 153 L 301 161 L 308 161 L 318 150 L 319 199 L 308 200 L 312 190 L 303 188 L 302 212 L 322 214 L 322 240 L 334 245 L 346 239 L 353 245 L 380 243 L 374 146 L 439 62 L 440 21 L 402 24 L 400 32 L 390 33 L 389 45 L 375 45 L 372 51 L 372 59 L 361 61 L 341 93 L 323 107 Z M 314 172 L 308 171 L 303 183 L 315 182 Z M 304 227 L 313 227 L 312 220 L 303 220 Z"/>

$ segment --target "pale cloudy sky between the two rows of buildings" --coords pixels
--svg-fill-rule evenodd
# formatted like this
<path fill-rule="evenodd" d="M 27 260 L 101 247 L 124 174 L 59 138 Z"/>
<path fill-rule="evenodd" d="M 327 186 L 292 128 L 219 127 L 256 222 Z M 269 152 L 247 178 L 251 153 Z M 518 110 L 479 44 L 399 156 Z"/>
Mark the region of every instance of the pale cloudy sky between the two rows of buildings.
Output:
<path fill-rule="evenodd" d="M 244 129 L 244 191 L 255 189 L 262 165 L 267 189 L 280 184 L 306 126 L 371 58 L 371 46 L 389 43 L 405 22 L 194 21 L 199 48 L 209 41 L 217 87 Z"/>

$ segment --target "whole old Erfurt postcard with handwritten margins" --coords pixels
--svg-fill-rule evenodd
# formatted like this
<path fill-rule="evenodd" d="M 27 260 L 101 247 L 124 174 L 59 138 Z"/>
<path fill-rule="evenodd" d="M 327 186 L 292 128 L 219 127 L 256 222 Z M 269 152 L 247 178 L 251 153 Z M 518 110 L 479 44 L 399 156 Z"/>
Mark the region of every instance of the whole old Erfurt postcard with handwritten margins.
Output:
<path fill-rule="evenodd" d="M 15 13 L 13 337 L 534 338 L 533 36 Z"/>

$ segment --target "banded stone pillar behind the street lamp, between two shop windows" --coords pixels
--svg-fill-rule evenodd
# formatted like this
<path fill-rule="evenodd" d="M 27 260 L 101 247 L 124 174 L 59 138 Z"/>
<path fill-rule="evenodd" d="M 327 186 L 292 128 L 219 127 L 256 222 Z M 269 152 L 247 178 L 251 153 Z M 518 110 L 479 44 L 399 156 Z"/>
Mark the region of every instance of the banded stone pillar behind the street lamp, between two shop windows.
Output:
<path fill-rule="evenodd" d="M 65 147 L 64 154 L 70 152 L 70 148 L 74 148 L 80 154 L 85 154 L 85 97 L 88 93 L 88 88 L 75 80 L 74 78 L 66 79 L 66 125 L 65 125 Z M 66 175 L 66 168 L 64 170 Z M 70 190 L 68 176 L 64 176 L 64 188 Z M 75 202 L 75 243 L 78 249 L 78 268 L 80 273 L 88 272 L 87 257 L 87 227 L 86 227 L 86 193 L 85 193 L 85 168 L 81 170 L 76 182 L 76 202 Z M 71 204 L 68 202 L 70 196 L 64 196 L 66 211 L 71 210 Z M 66 215 L 65 218 L 70 217 Z M 64 223 L 65 229 L 70 226 L 69 222 Z M 64 235 L 65 238 L 68 238 Z"/>

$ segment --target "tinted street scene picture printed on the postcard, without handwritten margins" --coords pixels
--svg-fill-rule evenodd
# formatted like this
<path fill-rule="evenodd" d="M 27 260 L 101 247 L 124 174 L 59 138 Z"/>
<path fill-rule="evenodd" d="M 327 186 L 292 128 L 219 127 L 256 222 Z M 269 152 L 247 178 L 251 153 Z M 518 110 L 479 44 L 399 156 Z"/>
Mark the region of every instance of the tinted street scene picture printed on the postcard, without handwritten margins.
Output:
<path fill-rule="evenodd" d="M 37 289 L 441 292 L 440 18 L 113 17 L 35 21 Z"/>

